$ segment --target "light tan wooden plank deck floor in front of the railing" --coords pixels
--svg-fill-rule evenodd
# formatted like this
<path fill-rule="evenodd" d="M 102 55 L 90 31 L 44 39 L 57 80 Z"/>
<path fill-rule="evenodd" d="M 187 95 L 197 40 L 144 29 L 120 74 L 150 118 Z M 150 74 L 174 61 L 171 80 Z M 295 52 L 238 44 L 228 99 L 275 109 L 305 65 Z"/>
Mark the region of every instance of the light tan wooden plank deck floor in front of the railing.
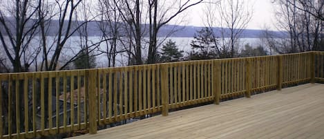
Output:
<path fill-rule="evenodd" d="M 324 84 L 304 84 L 170 112 L 75 139 L 323 137 Z"/>

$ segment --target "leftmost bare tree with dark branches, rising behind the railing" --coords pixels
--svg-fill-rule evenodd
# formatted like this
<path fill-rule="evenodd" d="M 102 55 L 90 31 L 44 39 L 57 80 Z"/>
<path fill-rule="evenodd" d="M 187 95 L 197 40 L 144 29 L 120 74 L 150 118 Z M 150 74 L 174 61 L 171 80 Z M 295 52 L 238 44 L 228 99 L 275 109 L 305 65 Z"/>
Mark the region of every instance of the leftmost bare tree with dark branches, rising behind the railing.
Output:
<path fill-rule="evenodd" d="M 0 40 L 14 72 L 28 71 L 39 50 L 32 50 L 30 43 L 37 33 L 35 17 L 37 1 L 16 0 L 3 3 L 0 8 Z"/>

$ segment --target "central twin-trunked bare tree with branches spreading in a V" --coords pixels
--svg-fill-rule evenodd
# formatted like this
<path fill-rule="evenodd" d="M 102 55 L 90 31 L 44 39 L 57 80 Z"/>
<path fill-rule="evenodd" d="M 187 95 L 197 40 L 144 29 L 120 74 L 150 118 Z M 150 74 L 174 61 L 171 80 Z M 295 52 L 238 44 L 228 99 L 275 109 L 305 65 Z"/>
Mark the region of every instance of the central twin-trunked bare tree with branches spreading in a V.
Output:
<path fill-rule="evenodd" d="M 115 3 L 124 3 L 118 6 L 122 18 L 128 23 L 131 34 L 135 39 L 135 64 L 142 64 L 142 44 L 141 40 L 146 33 L 148 26 L 149 49 L 147 54 L 147 63 L 154 63 L 158 54 L 158 33 L 162 26 L 168 24 L 171 20 L 178 17 L 191 6 L 196 6 L 203 0 L 198 1 L 158 1 L 149 0 L 147 3 L 140 0 L 125 1 L 114 0 Z M 148 23 L 146 23 L 148 20 Z"/>

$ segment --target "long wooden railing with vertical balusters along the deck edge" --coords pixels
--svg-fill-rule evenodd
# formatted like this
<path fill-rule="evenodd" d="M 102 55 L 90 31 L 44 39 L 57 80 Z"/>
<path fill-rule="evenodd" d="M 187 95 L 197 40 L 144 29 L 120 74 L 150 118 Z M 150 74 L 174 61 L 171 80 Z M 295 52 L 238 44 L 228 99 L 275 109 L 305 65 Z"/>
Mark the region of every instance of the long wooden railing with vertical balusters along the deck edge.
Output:
<path fill-rule="evenodd" d="M 324 53 L 0 74 L 0 137 L 86 130 L 169 109 L 324 82 Z"/>

